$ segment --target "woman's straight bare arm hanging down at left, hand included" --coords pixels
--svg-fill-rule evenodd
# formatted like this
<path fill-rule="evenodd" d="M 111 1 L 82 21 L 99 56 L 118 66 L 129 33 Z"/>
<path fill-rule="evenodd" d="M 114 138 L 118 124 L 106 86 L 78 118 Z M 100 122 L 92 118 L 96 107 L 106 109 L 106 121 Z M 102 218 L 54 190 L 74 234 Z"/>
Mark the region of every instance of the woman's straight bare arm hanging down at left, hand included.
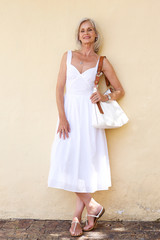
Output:
<path fill-rule="evenodd" d="M 58 80 L 56 85 L 56 101 L 57 101 L 57 108 L 59 114 L 59 126 L 57 133 L 59 136 L 63 135 L 63 138 L 69 137 L 68 133 L 70 132 L 70 126 L 66 118 L 65 110 L 64 110 L 64 87 L 66 84 L 66 60 L 67 60 L 67 53 L 64 53 L 60 65 L 60 70 L 58 74 Z"/>

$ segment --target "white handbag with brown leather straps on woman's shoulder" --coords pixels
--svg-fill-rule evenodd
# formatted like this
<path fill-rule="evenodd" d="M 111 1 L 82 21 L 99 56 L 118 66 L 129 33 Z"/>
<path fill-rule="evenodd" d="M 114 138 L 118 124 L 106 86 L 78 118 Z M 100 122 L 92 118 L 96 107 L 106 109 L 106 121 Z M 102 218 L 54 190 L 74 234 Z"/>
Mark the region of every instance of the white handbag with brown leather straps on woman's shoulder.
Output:
<path fill-rule="evenodd" d="M 104 57 L 100 57 L 95 86 L 98 86 L 99 83 L 103 58 Z M 109 81 L 107 78 L 106 84 L 109 85 Z M 93 92 L 95 91 L 97 91 L 97 87 L 94 88 Z M 106 95 L 108 95 L 109 93 L 111 93 L 110 89 L 105 92 Z M 127 115 L 115 100 L 92 104 L 92 126 L 94 126 L 95 128 L 118 128 L 126 124 L 128 121 L 129 119 Z"/>

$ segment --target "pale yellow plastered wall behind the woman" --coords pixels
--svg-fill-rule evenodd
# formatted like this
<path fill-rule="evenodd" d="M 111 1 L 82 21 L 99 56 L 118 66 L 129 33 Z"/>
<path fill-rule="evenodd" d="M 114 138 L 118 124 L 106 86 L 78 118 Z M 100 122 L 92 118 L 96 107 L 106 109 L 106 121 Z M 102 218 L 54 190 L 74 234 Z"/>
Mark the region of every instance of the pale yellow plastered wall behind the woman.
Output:
<path fill-rule="evenodd" d="M 160 1 L 0 1 L 0 218 L 70 219 L 75 196 L 47 188 L 62 54 L 93 18 L 126 91 L 127 126 L 107 132 L 112 188 L 94 197 L 103 219 L 154 220 L 160 213 Z"/>

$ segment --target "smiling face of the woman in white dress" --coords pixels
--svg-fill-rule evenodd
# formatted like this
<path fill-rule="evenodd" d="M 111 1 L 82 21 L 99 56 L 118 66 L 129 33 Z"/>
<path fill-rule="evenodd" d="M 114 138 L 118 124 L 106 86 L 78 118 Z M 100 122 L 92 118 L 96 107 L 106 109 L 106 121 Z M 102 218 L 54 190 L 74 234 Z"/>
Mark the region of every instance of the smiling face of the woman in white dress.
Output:
<path fill-rule="evenodd" d="M 86 21 L 81 24 L 79 29 L 79 40 L 81 43 L 94 43 L 95 38 L 97 37 L 95 30 L 92 24 L 89 21 Z"/>

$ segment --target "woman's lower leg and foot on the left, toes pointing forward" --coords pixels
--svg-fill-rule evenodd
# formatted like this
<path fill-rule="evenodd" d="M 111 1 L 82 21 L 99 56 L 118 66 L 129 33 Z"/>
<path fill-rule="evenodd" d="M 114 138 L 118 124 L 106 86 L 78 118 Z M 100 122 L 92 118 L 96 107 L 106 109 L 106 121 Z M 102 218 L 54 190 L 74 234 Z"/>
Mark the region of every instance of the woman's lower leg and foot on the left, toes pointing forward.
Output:
<path fill-rule="evenodd" d="M 71 235 L 79 235 L 82 233 L 82 228 L 80 226 L 80 224 L 77 224 L 76 228 L 75 228 L 75 223 L 74 221 L 78 221 L 79 223 L 81 222 L 81 217 L 82 217 L 82 212 L 84 210 L 85 204 L 83 203 L 83 201 L 77 196 L 76 199 L 76 209 L 73 215 L 73 223 L 71 225 L 70 228 L 70 233 Z M 75 230 L 75 231 L 74 231 Z"/>

